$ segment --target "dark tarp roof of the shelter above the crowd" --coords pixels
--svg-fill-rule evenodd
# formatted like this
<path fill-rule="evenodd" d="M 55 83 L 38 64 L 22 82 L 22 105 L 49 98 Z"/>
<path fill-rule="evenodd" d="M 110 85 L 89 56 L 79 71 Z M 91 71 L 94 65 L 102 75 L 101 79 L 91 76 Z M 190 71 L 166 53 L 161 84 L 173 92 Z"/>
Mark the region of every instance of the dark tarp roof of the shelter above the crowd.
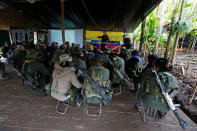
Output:
<path fill-rule="evenodd" d="M 130 32 L 160 2 L 64 0 L 65 28 Z M 60 0 L 2 0 L 0 9 L 0 26 L 61 29 Z"/>

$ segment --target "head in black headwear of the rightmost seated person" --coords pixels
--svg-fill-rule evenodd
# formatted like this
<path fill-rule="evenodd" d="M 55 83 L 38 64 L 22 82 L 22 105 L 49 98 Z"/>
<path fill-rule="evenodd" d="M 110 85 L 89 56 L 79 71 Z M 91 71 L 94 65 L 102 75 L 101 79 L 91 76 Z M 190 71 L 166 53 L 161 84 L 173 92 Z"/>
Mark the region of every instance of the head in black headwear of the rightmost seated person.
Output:
<path fill-rule="evenodd" d="M 159 58 L 155 61 L 155 69 L 159 72 L 171 71 L 172 65 L 165 58 Z"/>

